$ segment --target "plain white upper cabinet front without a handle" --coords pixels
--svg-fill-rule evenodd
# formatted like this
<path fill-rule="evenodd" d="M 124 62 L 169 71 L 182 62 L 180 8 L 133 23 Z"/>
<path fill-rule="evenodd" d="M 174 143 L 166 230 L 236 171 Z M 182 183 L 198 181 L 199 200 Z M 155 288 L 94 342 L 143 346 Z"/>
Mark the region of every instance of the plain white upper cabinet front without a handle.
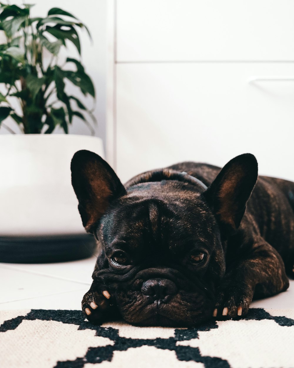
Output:
<path fill-rule="evenodd" d="M 117 61 L 294 60 L 293 0 L 118 0 Z"/>

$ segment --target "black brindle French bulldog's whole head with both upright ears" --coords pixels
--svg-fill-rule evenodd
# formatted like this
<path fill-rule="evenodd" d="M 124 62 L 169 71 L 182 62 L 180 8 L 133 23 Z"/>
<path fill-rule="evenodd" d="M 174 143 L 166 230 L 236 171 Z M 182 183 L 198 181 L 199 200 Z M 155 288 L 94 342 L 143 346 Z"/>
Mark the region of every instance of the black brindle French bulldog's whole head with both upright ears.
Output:
<path fill-rule="evenodd" d="M 211 318 L 225 273 L 226 238 L 239 227 L 257 180 L 253 155 L 237 156 L 207 190 L 186 173 L 150 171 L 122 185 L 89 151 L 72 159 L 85 229 L 101 245 L 93 273 L 138 325 L 192 326 Z"/>

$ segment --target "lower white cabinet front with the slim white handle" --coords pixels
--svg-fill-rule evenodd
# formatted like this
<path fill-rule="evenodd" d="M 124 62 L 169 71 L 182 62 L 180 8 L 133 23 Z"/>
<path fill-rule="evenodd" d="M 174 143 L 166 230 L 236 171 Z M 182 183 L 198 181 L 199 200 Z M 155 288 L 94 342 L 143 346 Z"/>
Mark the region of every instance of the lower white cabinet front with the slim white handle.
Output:
<path fill-rule="evenodd" d="M 116 68 L 116 169 L 123 181 L 185 160 L 223 166 L 245 152 L 257 157 L 259 173 L 294 180 L 293 64 Z"/>

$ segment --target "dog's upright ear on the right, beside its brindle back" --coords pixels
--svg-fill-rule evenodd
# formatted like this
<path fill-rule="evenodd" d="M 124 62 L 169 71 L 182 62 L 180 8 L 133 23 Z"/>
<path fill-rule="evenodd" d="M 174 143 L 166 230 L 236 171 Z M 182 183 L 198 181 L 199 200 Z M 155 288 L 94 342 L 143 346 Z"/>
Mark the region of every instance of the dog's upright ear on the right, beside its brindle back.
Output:
<path fill-rule="evenodd" d="M 225 240 L 239 227 L 254 185 L 257 181 L 257 160 L 250 153 L 230 160 L 204 192 Z"/>

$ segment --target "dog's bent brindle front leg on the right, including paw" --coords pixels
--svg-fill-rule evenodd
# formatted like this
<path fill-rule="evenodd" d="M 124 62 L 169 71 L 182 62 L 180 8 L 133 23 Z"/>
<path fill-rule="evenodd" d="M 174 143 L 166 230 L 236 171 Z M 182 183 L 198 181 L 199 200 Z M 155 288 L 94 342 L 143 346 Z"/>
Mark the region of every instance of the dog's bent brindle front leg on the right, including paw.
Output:
<path fill-rule="evenodd" d="M 285 266 L 279 253 L 258 239 L 247 257 L 229 265 L 218 289 L 214 317 L 245 315 L 252 298 L 263 298 L 289 287 Z"/>

